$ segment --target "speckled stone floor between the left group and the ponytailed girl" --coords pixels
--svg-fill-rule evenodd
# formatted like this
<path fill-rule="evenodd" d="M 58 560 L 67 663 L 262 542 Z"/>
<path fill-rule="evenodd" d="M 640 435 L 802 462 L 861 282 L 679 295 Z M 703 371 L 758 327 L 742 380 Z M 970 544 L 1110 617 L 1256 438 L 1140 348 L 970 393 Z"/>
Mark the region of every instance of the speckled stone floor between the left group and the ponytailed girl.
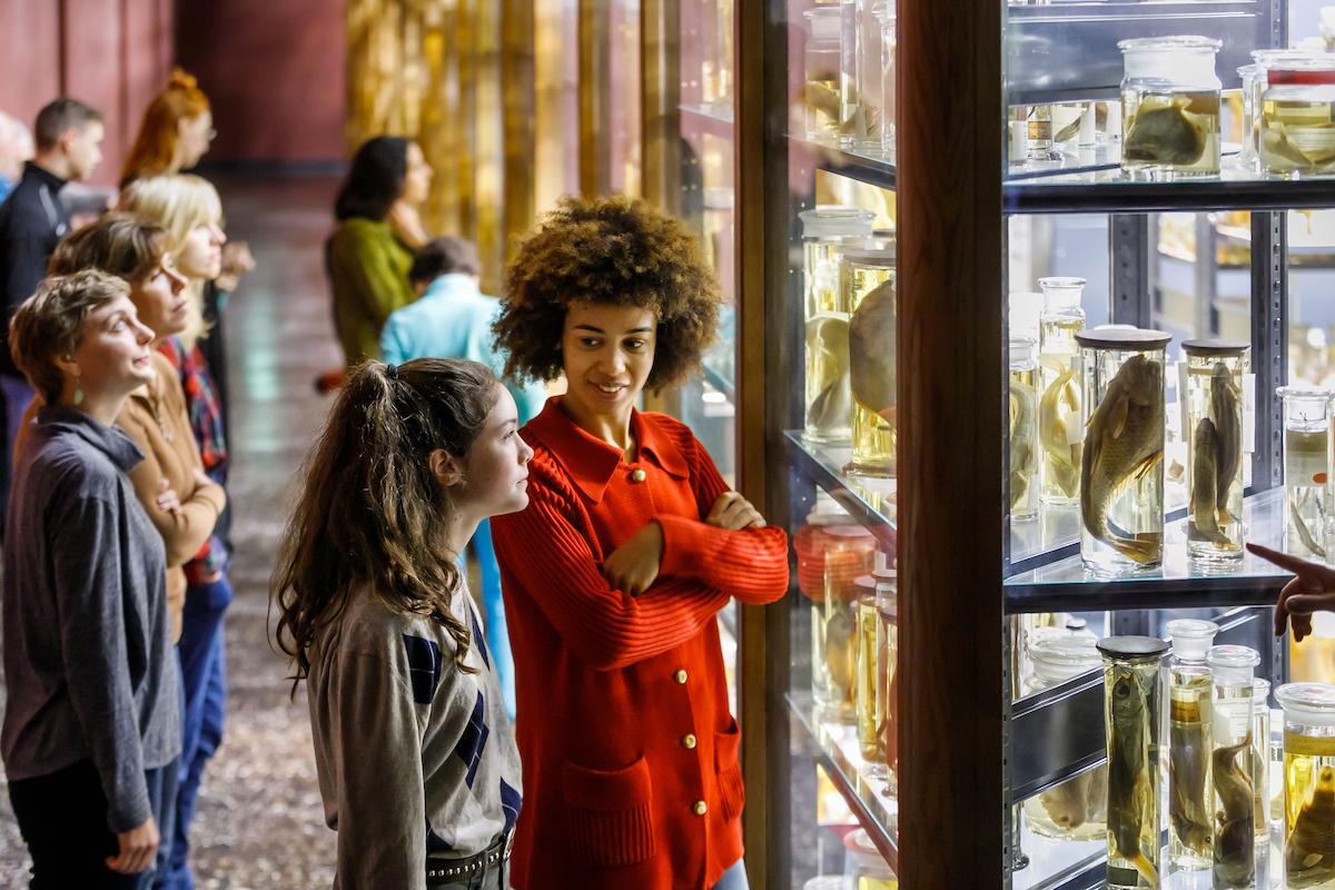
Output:
<path fill-rule="evenodd" d="M 236 516 L 231 702 L 223 747 L 200 793 L 192 861 L 202 890 L 327 887 L 334 833 L 322 817 L 304 691 L 290 701 L 287 662 L 267 630 L 268 576 L 294 474 L 328 407 L 311 382 L 340 362 L 320 271 L 336 183 L 220 180 L 219 187 L 228 234 L 250 242 L 258 268 L 226 319 Z M 25 887 L 27 869 L 8 795 L 0 793 L 0 889 Z"/>

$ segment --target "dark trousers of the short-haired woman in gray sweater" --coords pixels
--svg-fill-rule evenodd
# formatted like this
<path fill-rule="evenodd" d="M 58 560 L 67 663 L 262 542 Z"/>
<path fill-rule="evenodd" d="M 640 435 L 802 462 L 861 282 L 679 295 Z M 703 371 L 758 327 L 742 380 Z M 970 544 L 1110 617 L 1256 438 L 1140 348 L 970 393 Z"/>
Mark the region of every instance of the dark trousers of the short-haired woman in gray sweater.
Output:
<path fill-rule="evenodd" d="M 166 843 L 170 838 L 162 831 L 163 813 L 176 793 L 176 763 L 147 770 L 144 781 L 154 822 Z M 107 867 L 107 857 L 116 855 L 120 845 L 107 827 L 107 795 L 92 761 L 11 782 L 9 802 L 32 857 L 31 890 L 147 890 L 152 885 L 154 869 L 120 874 Z"/>

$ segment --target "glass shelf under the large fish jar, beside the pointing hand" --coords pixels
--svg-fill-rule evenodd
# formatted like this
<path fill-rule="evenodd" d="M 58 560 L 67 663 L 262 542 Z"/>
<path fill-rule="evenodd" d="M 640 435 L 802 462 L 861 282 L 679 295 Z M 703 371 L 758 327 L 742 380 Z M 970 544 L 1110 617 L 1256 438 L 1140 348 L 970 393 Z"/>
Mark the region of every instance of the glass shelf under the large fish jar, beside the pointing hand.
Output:
<path fill-rule="evenodd" d="M 1284 490 L 1274 488 L 1244 502 L 1247 539 L 1282 548 Z M 1163 567 L 1135 575 L 1104 576 L 1075 554 L 1005 579 L 1007 614 L 1119 608 L 1192 608 L 1271 606 L 1291 578 L 1271 563 L 1243 555 L 1235 567 L 1196 564 L 1187 559 L 1187 519 L 1164 524 Z"/>

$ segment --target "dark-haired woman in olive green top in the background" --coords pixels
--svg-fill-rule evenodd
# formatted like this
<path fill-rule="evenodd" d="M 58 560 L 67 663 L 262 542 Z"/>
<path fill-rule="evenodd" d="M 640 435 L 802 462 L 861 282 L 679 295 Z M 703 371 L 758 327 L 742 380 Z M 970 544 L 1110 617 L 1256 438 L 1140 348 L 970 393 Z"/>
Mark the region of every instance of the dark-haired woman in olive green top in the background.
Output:
<path fill-rule="evenodd" d="M 380 328 L 415 298 L 413 252 L 427 236 L 418 207 L 431 168 L 410 139 L 376 136 L 362 144 L 334 203 L 338 228 L 326 243 L 334 327 L 348 368 L 379 358 Z"/>

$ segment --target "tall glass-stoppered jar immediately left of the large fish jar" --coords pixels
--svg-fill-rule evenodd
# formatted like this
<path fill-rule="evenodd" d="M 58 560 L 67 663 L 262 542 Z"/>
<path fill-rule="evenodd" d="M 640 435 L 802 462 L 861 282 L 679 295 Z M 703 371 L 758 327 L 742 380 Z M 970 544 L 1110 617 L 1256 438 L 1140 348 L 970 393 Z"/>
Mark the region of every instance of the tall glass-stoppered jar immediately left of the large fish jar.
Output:
<path fill-rule="evenodd" d="M 1080 451 L 1084 438 L 1080 414 L 1080 346 L 1084 331 L 1080 304 L 1083 278 L 1040 278 L 1043 310 L 1039 312 L 1039 366 L 1043 395 L 1039 398 L 1039 442 L 1043 447 L 1043 503 L 1075 506 L 1080 496 Z"/>

